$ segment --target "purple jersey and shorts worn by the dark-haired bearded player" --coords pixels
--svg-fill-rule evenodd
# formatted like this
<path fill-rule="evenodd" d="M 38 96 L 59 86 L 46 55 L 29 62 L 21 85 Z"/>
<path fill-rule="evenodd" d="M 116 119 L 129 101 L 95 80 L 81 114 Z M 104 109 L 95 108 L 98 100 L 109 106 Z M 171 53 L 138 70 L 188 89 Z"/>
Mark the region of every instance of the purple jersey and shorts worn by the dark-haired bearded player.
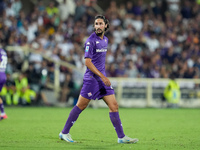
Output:
<path fill-rule="evenodd" d="M 94 66 L 104 75 L 108 38 L 101 39 L 96 33 L 92 33 L 85 42 L 85 58 L 91 58 Z M 101 99 L 106 95 L 114 94 L 112 86 L 106 86 L 101 78 L 87 68 L 81 95 L 87 99 Z"/>

